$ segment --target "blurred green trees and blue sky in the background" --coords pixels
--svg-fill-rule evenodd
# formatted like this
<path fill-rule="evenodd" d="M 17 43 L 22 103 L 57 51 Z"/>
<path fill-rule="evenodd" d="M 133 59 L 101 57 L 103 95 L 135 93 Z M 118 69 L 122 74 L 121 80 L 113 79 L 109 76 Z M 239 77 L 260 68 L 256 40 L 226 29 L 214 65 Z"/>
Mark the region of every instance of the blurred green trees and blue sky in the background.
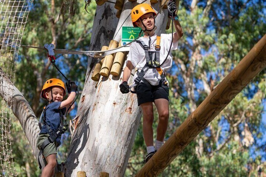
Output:
<path fill-rule="evenodd" d="M 84 4 L 78 3 L 75 16 L 66 14 L 58 18 L 61 2 L 55 1 L 53 8 L 50 1 L 34 1 L 21 44 L 43 46 L 53 41 L 58 49 L 89 49 L 96 4 L 92 3 L 87 9 L 89 13 L 86 13 Z M 266 29 L 263 2 L 252 1 L 243 5 L 245 1 L 232 4 L 231 1 L 218 0 L 212 3 L 206 16 L 206 1 L 198 3 L 193 12 L 189 8 L 190 3 L 184 0 L 179 5 L 178 15 L 184 36 L 179 41 L 179 49 L 173 52 L 175 69 L 167 76 L 170 85 L 170 117 L 166 140 L 193 111 L 192 107 L 199 106 L 209 94 L 204 83 L 209 89 L 211 85 L 219 84 L 265 34 Z M 167 32 L 170 33 L 170 30 Z M 62 79 L 58 71 L 49 66 L 50 61 L 46 55 L 43 50 L 21 48 L 17 62 L 15 85 L 30 105 L 37 107 L 34 110 L 37 116 L 45 104 L 39 99 L 42 84 L 38 80 L 41 78 L 45 81 L 51 77 Z M 63 73 L 83 88 L 87 57 L 56 57 L 56 64 Z M 189 89 L 192 95 L 189 95 Z M 266 167 L 261 158 L 252 159 L 249 154 L 251 146 L 261 150 L 257 141 L 264 133 L 260 126 L 265 94 L 264 69 L 160 176 L 246 176 L 248 163 L 252 166 L 249 174 L 255 176 L 258 165 Z M 154 115 L 153 128 L 156 130 L 158 117 Z M 12 134 L 17 135 L 12 142 L 16 171 L 19 176 L 26 176 L 26 164 L 29 164 L 31 175 L 38 176 L 40 170 L 37 161 L 29 150 L 31 148 L 19 122 L 13 119 L 12 124 Z M 244 138 L 247 143 L 243 143 Z M 199 143 L 201 141 L 202 145 Z M 58 151 L 59 162 L 66 159 L 69 142 L 69 133 L 66 133 Z M 145 155 L 146 146 L 140 122 L 125 176 L 132 176 L 141 169 Z"/>

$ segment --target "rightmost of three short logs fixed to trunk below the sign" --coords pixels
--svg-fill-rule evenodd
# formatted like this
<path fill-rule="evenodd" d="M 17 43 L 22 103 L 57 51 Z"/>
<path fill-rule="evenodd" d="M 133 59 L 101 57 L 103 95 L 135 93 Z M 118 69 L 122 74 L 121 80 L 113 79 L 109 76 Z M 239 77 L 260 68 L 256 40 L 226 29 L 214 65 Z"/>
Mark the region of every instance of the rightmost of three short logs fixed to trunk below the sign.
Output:
<path fill-rule="evenodd" d="M 118 47 L 121 46 L 121 41 L 119 42 Z M 125 52 L 117 52 L 114 57 L 114 63 L 112 65 L 110 74 L 113 76 L 118 76 L 121 70 L 121 66 L 123 64 L 125 58 Z"/>

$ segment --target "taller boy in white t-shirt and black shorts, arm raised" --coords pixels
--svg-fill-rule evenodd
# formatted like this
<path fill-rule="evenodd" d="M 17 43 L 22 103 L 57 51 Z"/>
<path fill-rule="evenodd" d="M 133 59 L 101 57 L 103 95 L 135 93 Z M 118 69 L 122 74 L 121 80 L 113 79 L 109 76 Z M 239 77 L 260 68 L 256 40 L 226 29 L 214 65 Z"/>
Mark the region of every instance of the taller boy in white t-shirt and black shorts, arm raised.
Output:
<path fill-rule="evenodd" d="M 177 49 L 178 40 L 183 36 L 183 29 L 178 22 L 178 18 L 176 18 L 176 10 L 175 2 L 169 1 L 168 14 L 172 14 L 169 12 L 173 11 L 173 17 L 175 17 L 174 27 L 176 29 L 173 34 L 171 50 Z M 168 55 L 165 60 L 171 45 L 172 34 L 161 34 L 161 37 L 156 36 L 154 32 L 155 15 L 156 12 L 149 4 L 139 4 L 132 9 L 133 26 L 141 27 L 144 31 L 144 36 L 139 38 L 138 42 L 131 44 L 123 73 L 123 81 L 120 84 L 122 93 L 128 93 L 130 88 L 134 86 L 138 106 L 141 106 L 143 111 L 143 137 L 147 146 L 147 155 L 144 163 L 162 146 L 169 117 L 169 87 L 164 72 L 172 67 L 171 55 Z M 131 70 L 134 68 L 138 69 L 138 71 L 133 78 L 134 84 L 129 87 L 127 81 Z M 152 102 L 154 102 L 159 115 L 155 147 L 153 146 L 152 123 L 154 117 Z"/>

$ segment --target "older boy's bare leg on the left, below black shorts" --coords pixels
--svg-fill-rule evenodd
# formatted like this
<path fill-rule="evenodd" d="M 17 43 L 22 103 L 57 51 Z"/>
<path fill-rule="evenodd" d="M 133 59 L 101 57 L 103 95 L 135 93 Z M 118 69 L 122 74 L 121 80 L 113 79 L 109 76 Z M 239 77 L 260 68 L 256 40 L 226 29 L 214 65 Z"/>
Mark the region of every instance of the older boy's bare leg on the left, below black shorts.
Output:
<path fill-rule="evenodd" d="M 141 109 L 143 111 L 143 137 L 146 146 L 153 146 L 153 105 L 152 102 L 142 103 Z"/>

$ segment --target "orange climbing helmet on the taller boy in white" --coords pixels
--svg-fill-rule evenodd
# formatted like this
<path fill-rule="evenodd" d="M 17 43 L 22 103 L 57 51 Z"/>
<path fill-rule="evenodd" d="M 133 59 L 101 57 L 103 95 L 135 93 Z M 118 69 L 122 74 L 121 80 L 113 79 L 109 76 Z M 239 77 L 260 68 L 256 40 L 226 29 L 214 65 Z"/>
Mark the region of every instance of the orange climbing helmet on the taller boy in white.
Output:
<path fill-rule="evenodd" d="M 134 27 L 138 27 L 135 22 L 146 13 L 153 13 L 154 16 L 156 15 L 155 10 L 150 4 L 139 4 L 131 10 L 131 19 Z"/>

